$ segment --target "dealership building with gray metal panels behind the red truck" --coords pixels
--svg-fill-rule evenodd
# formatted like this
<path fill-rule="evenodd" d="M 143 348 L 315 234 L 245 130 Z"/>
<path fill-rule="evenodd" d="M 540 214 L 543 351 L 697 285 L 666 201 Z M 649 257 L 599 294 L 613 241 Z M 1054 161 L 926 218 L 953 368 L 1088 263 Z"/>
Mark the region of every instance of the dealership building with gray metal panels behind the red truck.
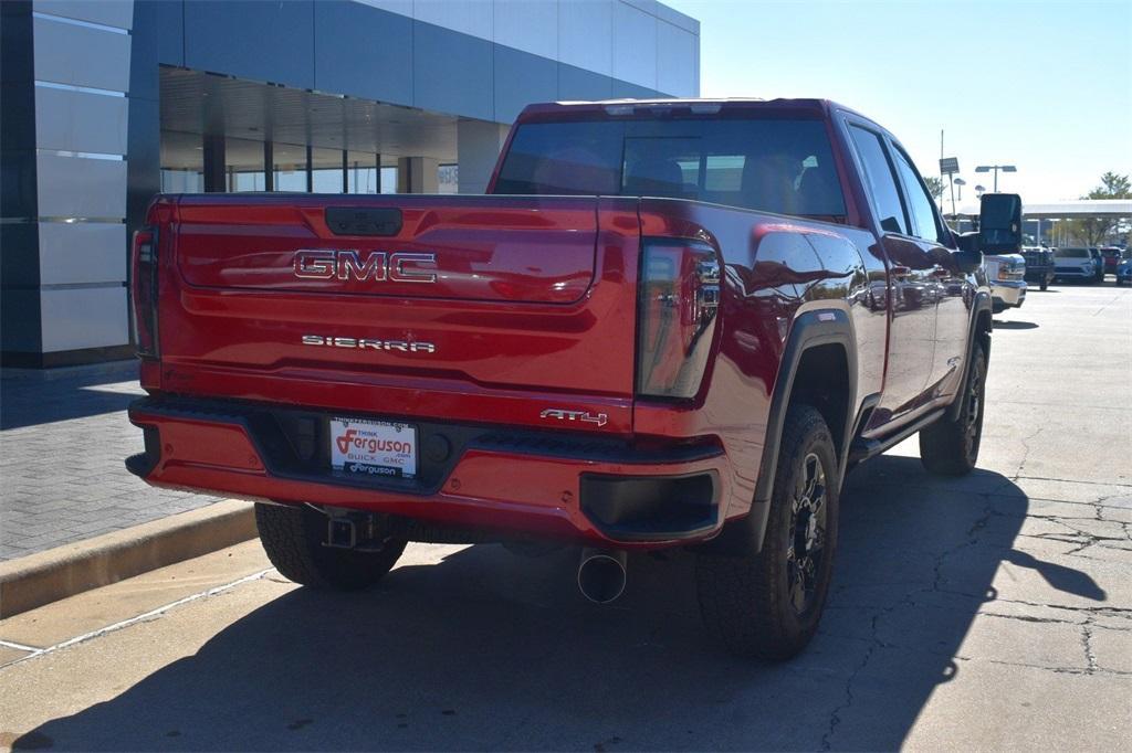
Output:
<path fill-rule="evenodd" d="M 2 362 L 132 354 L 158 191 L 482 192 L 532 102 L 696 96 L 654 0 L 0 2 Z"/>

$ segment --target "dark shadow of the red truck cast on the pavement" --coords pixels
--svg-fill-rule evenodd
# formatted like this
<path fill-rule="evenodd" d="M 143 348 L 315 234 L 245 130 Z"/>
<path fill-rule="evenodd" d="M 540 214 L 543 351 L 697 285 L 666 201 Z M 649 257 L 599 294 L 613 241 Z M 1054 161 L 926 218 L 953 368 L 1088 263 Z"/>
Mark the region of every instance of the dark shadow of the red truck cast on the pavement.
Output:
<path fill-rule="evenodd" d="M 16 747 L 891 750 L 976 664 L 964 639 L 1001 563 L 1105 599 L 1088 575 L 1013 548 L 1028 500 L 998 474 L 942 481 L 882 457 L 842 505 L 822 632 L 788 664 L 712 644 L 689 555 L 631 557 L 626 596 L 599 607 L 575 592 L 576 552 L 475 546 L 366 594 L 240 587 L 266 603 Z"/>

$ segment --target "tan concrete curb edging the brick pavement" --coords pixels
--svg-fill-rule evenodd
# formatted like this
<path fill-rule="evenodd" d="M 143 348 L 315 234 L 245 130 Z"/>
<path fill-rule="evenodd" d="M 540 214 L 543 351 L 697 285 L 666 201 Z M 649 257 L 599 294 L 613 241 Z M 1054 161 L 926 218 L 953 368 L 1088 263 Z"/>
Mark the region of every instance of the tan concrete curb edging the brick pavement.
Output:
<path fill-rule="evenodd" d="M 0 618 L 256 537 L 250 502 L 225 500 L 0 562 Z"/>

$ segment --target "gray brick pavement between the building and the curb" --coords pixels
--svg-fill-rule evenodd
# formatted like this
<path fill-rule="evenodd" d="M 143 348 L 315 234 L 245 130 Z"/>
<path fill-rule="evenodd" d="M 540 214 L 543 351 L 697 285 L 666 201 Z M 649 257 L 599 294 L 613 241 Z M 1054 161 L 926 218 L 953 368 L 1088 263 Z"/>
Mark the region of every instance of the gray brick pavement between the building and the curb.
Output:
<path fill-rule="evenodd" d="M 91 538 L 221 497 L 157 490 L 122 461 L 142 451 L 126 417 L 134 364 L 0 379 L 0 560 Z"/>

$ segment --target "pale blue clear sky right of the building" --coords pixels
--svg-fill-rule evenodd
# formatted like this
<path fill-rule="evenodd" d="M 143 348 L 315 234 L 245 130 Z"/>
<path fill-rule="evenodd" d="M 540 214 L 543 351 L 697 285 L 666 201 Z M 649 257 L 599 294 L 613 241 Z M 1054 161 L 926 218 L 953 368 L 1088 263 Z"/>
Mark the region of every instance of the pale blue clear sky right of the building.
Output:
<path fill-rule="evenodd" d="M 1132 173 L 1132 0 L 662 1 L 700 20 L 701 96 L 835 99 L 925 176 L 942 129 L 964 204 L 977 165 L 1015 165 L 998 190 L 1031 204 Z"/>

